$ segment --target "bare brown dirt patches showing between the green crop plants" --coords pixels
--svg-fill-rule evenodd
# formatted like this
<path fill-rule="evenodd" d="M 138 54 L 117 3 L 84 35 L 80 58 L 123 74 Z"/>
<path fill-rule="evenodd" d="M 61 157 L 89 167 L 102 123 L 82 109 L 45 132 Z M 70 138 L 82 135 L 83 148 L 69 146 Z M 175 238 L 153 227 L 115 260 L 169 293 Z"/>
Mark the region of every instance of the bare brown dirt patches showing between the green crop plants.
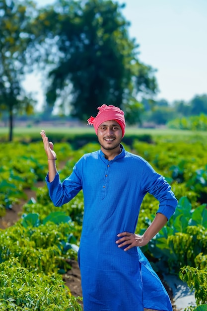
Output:
<path fill-rule="evenodd" d="M 41 187 L 43 185 L 43 182 L 39 182 L 36 184 L 36 187 Z M 25 190 L 25 193 L 27 195 L 27 200 L 21 200 L 18 205 L 13 206 L 12 210 L 7 210 L 6 215 L 2 218 L 0 218 L 0 229 L 6 229 L 9 226 L 12 226 L 15 224 L 15 222 L 20 218 L 20 213 L 22 206 L 28 202 L 28 200 L 33 197 L 36 199 L 35 191 L 27 189 Z M 81 289 L 81 277 L 80 277 L 80 270 L 78 267 L 78 263 L 74 260 L 70 261 L 71 270 L 69 270 L 66 274 L 63 275 L 63 280 L 66 282 L 66 285 L 69 287 L 71 294 L 74 297 L 82 297 L 82 289 Z M 159 276 L 162 280 L 162 276 Z M 169 286 L 162 280 L 164 287 L 166 288 L 166 291 L 168 292 L 168 295 L 171 299 L 172 305 L 173 305 L 173 311 L 177 311 L 174 306 L 173 296 L 172 296 L 172 290 L 169 288 Z M 82 302 L 80 301 L 79 304 L 82 306 Z M 145 309 L 147 311 L 148 309 Z"/>

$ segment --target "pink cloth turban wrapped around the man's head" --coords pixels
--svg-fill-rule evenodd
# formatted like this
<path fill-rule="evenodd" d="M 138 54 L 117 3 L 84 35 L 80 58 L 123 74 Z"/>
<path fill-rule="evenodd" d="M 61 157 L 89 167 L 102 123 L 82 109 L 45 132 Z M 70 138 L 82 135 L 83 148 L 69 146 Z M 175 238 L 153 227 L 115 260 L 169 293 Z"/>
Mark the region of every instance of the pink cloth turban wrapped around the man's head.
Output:
<path fill-rule="evenodd" d="M 98 131 L 98 127 L 101 123 L 105 121 L 115 120 L 119 123 L 122 129 L 122 137 L 125 134 L 125 118 L 124 118 L 124 111 L 122 111 L 119 107 L 115 107 L 113 105 L 102 105 L 101 107 L 97 108 L 99 110 L 97 116 L 90 117 L 88 119 L 88 124 L 93 125 L 96 135 Z"/>

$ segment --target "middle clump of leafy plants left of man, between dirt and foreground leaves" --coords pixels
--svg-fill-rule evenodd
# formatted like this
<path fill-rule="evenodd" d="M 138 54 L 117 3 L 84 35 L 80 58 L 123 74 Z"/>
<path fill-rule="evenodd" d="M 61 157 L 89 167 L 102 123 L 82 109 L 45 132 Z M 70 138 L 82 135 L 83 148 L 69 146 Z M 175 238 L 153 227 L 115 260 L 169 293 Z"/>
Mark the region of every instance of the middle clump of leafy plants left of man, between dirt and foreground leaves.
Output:
<path fill-rule="evenodd" d="M 0 235 L 0 261 L 18 258 L 30 271 L 57 272 L 69 269 L 69 258 L 77 258 L 74 224 L 63 212 L 56 212 L 42 223 L 37 214 L 23 215 Z"/>

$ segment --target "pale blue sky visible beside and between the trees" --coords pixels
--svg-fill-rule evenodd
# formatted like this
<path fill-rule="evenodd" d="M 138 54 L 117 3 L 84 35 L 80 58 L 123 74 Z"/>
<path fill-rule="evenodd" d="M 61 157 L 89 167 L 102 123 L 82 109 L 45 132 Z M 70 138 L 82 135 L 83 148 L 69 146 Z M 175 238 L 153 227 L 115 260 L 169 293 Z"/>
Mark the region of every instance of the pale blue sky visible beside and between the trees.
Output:
<path fill-rule="evenodd" d="M 36 0 L 38 5 L 54 0 Z M 123 15 L 130 37 L 139 44 L 139 60 L 156 69 L 157 98 L 189 101 L 207 94 L 207 0 L 125 0 Z M 39 77 L 40 78 L 40 77 Z M 38 76 L 25 86 L 38 90 Z"/>

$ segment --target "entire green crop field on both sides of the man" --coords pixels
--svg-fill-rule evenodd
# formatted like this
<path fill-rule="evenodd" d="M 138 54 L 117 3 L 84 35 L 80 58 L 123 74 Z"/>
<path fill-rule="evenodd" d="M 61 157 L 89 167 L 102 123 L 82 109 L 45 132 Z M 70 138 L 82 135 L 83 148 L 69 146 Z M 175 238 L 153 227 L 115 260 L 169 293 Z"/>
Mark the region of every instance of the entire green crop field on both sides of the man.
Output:
<path fill-rule="evenodd" d="M 14 203 L 24 198 L 25 189 L 34 187 L 38 180 L 44 180 L 47 173 L 42 144 L 2 145 L 1 215 L 6 208 L 12 208 Z M 69 175 L 80 156 L 97 148 L 99 146 L 96 144 L 88 144 L 74 151 L 69 144 L 58 143 L 55 150 L 61 178 Z M 126 149 L 129 150 L 127 146 Z M 203 140 L 181 143 L 158 139 L 154 144 L 135 141 L 133 152 L 143 156 L 166 177 L 179 200 L 176 213 L 168 224 L 142 250 L 150 258 L 155 271 L 179 274 L 181 279 L 195 289 L 197 305 L 206 304 L 207 144 Z M 140 210 L 138 233 L 147 228 L 156 210 L 157 201 L 147 194 Z M 9 283 L 10 277 L 1 286 L 1 310 L 81 310 L 60 275 L 70 268 L 69 259 L 77 258 L 82 218 L 82 192 L 60 208 L 51 203 L 46 186 L 37 189 L 37 200 L 30 200 L 23 206 L 21 220 L 1 233 L 0 274 L 6 266 L 8 270 L 15 268 L 12 273 L 17 275 L 13 287 Z M 23 286 L 23 279 L 18 277 L 20 270 L 30 275 L 26 281 L 27 287 Z M 6 275 L 11 274 L 7 272 Z M 46 288 L 51 293 L 55 291 L 57 286 L 52 282 L 58 282 L 61 294 L 57 290 L 57 295 L 55 292 L 51 294 L 53 300 L 47 301 L 43 296 L 40 297 L 40 289 L 37 287 L 34 289 L 36 296 L 32 295 L 29 289 L 34 286 L 33 280 L 39 277 L 45 280 L 41 283 L 42 290 L 44 288 L 42 293 Z M 18 293 L 14 292 L 15 282 L 20 286 Z M 48 282 L 47 286 L 45 282 Z M 6 287 L 10 290 L 5 292 Z"/>

